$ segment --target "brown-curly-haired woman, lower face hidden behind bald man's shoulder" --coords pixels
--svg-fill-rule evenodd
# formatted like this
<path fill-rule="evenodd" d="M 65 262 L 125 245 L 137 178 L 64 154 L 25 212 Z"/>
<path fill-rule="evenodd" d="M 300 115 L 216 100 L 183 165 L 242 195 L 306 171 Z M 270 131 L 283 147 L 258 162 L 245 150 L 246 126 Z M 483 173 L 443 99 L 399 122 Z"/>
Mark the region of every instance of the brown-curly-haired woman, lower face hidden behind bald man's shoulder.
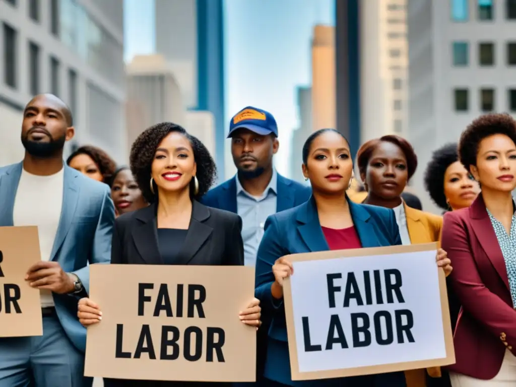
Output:
<path fill-rule="evenodd" d="M 116 163 L 106 152 L 91 145 L 74 151 L 66 160 L 66 164 L 89 178 L 106 184 L 117 169 Z"/>

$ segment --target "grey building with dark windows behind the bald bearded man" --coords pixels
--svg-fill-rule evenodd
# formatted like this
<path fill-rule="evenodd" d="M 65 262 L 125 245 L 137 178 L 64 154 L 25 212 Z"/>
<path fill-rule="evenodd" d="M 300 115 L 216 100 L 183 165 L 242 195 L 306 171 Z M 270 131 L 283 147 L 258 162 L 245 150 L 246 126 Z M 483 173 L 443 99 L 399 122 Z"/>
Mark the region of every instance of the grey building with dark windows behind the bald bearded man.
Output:
<path fill-rule="evenodd" d="M 70 106 L 75 143 L 125 160 L 123 0 L 2 0 L 0 24 L 0 165 L 23 157 L 23 108 L 42 92 Z"/>

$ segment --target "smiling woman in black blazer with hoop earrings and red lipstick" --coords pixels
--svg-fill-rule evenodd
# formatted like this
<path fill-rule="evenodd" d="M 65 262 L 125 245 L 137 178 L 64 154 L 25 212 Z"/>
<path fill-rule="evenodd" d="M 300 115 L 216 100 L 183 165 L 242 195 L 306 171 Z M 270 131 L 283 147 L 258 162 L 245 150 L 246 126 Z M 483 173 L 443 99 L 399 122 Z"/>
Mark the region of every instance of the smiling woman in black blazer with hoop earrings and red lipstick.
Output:
<path fill-rule="evenodd" d="M 216 167 L 202 142 L 178 125 L 151 126 L 131 149 L 131 170 L 146 208 L 121 215 L 112 237 L 112 264 L 243 265 L 242 220 L 233 213 L 206 207 L 197 200 L 215 181 Z M 260 301 L 253 298 L 239 318 L 261 325 Z M 79 321 L 100 321 L 98 305 L 79 301 Z M 105 379 L 105 387 L 136 385 L 223 385 L 206 382 L 150 382 Z"/>

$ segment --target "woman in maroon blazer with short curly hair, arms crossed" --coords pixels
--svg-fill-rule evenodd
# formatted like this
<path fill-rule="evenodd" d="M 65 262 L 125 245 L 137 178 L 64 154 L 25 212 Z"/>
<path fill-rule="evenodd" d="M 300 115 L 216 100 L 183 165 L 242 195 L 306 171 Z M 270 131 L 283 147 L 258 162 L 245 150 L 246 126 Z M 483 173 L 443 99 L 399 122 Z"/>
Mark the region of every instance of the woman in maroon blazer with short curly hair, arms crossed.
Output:
<path fill-rule="evenodd" d="M 459 156 L 482 192 L 469 208 L 444 215 L 442 248 L 462 305 L 451 385 L 514 386 L 516 121 L 505 114 L 476 119 L 461 135 Z"/>

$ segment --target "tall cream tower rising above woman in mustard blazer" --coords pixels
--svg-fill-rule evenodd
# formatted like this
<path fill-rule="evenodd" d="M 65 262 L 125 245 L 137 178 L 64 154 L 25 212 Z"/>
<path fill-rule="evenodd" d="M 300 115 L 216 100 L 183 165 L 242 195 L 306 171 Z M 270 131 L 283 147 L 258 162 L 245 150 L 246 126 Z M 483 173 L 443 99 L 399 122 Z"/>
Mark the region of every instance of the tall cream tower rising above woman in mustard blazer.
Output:
<path fill-rule="evenodd" d="M 359 7 L 361 141 L 407 132 L 407 0 Z"/>

